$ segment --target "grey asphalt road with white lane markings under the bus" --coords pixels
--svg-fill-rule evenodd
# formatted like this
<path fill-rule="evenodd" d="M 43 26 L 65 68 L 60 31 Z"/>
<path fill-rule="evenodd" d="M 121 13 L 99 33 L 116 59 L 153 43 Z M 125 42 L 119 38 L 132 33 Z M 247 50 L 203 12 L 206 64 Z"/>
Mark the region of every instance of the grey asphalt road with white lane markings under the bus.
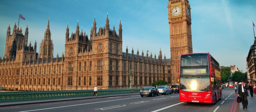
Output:
<path fill-rule="evenodd" d="M 118 96 L 75 100 L 67 102 L 41 103 L 9 106 L 0 112 L 238 112 L 233 88 L 222 90 L 223 97 L 216 105 L 180 102 L 179 94 L 172 93 L 154 97 Z M 232 109 L 232 110 L 231 110 Z"/>

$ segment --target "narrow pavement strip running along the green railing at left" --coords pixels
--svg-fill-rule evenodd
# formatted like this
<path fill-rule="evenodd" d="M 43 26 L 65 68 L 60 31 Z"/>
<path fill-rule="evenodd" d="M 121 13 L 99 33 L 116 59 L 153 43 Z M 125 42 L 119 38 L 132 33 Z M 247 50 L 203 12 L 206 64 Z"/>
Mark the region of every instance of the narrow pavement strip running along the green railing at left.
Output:
<path fill-rule="evenodd" d="M 105 98 L 105 97 L 129 96 L 129 95 L 137 95 L 137 94 L 140 94 L 140 93 L 111 94 L 111 95 L 104 95 L 104 96 L 99 95 L 99 96 L 57 98 L 57 99 L 40 99 L 40 100 L 0 102 L 0 107 L 17 106 L 17 105 L 30 105 L 30 104 L 39 104 L 39 103 L 65 102 L 65 101 L 96 99 L 96 98 Z"/>

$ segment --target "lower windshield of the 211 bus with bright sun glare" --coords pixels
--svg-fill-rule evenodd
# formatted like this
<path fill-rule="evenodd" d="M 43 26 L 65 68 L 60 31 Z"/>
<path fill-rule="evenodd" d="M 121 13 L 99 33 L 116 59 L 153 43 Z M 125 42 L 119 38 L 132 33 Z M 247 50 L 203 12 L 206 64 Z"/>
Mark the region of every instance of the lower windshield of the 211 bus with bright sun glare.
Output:
<path fill-rule="evenodd" d="M 210 76 L 180 77 L 180 89 L 188 92 L 210 91 Z"/>

